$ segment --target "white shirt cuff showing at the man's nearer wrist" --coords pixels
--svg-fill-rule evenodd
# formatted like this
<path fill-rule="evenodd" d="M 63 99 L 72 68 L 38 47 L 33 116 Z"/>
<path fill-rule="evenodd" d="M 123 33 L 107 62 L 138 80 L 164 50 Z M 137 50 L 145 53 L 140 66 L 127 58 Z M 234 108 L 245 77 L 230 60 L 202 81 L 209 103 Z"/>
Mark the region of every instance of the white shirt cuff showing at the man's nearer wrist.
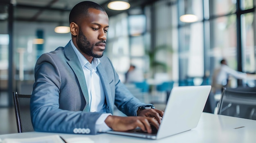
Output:
<path fill-rule="evenodd" d="M 109 130 L 112 130 L 111 128 L 108 127 L 108 125 L 105 123 L 106 118 L 112 115 L 110 113 L 104 113 L 101 114 L 101 116 L 97 119 L 96 121 L 96 126 L 95 129 L 97 132 L 107 132 Z"/>

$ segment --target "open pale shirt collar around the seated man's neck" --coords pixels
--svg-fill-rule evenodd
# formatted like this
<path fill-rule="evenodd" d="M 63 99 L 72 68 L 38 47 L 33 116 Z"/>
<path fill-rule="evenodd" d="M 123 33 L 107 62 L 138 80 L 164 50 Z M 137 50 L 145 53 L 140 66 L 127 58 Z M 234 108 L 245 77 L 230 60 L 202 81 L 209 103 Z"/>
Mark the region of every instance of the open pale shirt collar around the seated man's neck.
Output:
<path fill-rule="evenodd" d="M 79 52 L 79 50 L 76 48 L 76 46 L 74 45 L 74 43 L 73 43 L 73 41 L 72 40 L 70 40 L 70 44 L 71 44 L 71 46 L 72 46 L 72 48 L 74 49 L 74 51 L 75 51 L 75 53 L 76 53 L 76 55 L 77 55 L 77 57 L 78 57 L 78 59 L 79 59 L 79 62 L 80 62 L 80 64 L 81 64 L 81 66 L 83 67 L 83 66 L 85 66 L 85 64 L 87 64 L 87 63 L 89 63 L 88 62 L 88 60 Z M 100 63 L 101 61 L 99 60 L 99 58 L 96 58 L 96 57 L 94 57 L 93 59 L 92 59 L 92 68 L 95 70 L 95 71 L 97 71 L 97 66 L 99 65 L 99 63 Z"/>

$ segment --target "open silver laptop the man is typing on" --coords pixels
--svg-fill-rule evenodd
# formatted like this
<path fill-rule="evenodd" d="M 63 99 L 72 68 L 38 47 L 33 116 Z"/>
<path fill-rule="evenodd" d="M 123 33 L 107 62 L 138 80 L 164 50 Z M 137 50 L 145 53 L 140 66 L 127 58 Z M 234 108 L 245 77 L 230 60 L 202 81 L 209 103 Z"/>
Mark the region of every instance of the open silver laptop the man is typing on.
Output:
<path fill-rule="evenodd" d="M 198 125 L 211 86 L 173 87 L 166 104 L 164 116 L 155 134 L 131 130 L 126 132 L 108 131 L 110 134 L 135 136 L 147 139 L 161 139 L 185 132 Z"/>

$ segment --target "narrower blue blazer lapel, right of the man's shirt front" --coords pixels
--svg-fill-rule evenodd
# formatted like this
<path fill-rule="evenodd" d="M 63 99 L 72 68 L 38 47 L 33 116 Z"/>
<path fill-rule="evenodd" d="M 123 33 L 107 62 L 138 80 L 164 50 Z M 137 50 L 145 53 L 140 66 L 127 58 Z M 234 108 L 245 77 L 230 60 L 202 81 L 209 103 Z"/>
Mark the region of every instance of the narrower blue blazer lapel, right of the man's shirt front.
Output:
<path fill-rule="evenodd" d="M 107 111 L 107 113 L 113 114 L 114 104 L 112 103 L 110 86 L 109 86 L 109 83 L 108 83 L 108 76 L 107 76 L 107 74 L 106 74 L 106 72 L 105 72 L 105 70 L 104 70 L 104 68 L 101 64 L 99 64 L 97 66 L 97 70 L 98 70 L 99 76 L 101 78 L 102 86 L 104 88 L 105 97 L 106 97 L 106 101 L 107 101 L 106 111 Z"/>

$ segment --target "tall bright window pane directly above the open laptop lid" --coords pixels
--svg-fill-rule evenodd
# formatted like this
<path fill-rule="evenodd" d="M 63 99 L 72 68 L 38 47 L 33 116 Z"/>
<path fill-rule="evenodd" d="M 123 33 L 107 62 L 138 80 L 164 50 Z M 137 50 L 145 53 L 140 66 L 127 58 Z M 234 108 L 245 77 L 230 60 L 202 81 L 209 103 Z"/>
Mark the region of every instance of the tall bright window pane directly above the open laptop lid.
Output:
<path fill-rule="evenodd" d="M 186 69 L 181 79 L 204 76 L 204 46 L 202 23 L 194 23 L 180 29 L 180 60 Z"/>

